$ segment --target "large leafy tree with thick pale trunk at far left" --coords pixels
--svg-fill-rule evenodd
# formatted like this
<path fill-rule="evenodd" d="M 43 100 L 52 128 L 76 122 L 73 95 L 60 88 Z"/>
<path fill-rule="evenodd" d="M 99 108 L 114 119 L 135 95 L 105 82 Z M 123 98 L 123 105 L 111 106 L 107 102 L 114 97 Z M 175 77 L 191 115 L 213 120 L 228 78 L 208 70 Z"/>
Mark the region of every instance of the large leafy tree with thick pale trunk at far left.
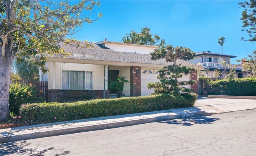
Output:
<path fill-rule="evenodd" d="M 94 0 L 0 0 L 0 120 L 9 116 L 12 62 L 22 56 L 37 55 L 36 63 L 46 72 L 46 54 L 65 54 L 60 42 L 91 46 L 89 43 L 81 45 L 68 36 L 79 31 L 83 23 L 91 24 L 102 16 L 99 13 L 94 20 L 90 19 L 90 11 L 99 5 Z"/>

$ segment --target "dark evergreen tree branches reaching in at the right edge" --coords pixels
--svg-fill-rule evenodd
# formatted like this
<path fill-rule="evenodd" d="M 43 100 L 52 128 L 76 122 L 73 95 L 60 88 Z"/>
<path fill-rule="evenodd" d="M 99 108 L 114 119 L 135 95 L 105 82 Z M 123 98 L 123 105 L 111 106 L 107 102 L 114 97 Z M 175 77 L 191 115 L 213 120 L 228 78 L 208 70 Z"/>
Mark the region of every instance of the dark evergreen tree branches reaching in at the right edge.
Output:
<path fill-rule="evenodd" d="M 244 8 L 242 12 L 243 21 L 242 31 L 248 33 L 249 38 L 245 39 L 242 37 L 242 40 L 249 41 L 254 43 L 256 41 L 256 0 L 250 0 L 250 2 L 240 2 L 238 3 L 241 8 Z M 256 49 L 252 51 L 251 55 L 248 55 L 248 59 L 242 59 L 244 62 L 242 65 L 244 71 L 249 71 L 252 76 L 256 76 Z"/>

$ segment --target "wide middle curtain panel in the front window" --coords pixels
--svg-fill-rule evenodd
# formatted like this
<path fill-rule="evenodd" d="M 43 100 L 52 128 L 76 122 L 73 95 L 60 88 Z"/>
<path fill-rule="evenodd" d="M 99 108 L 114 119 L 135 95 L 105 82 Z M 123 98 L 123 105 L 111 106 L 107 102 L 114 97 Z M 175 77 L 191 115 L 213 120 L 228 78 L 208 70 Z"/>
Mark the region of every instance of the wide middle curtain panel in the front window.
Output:
<path fill-rule="evenodd" d="M 84 89 L 84 71 L 70 71 L 70 89 Z"/>

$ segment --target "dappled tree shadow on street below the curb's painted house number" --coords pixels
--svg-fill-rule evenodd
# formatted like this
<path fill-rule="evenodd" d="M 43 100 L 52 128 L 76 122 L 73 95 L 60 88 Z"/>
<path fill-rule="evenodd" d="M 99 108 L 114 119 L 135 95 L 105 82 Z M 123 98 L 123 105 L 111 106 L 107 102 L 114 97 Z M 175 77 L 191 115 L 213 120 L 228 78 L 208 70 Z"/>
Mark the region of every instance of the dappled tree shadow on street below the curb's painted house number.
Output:
<path fill-rule="evenodd" d="M 210 117 L 193 117 L 193 118 L 183 118 L 177 120 L 168 120 L 158 123 L 166 123 L 166 124 L 180 124 L 182 126 L 192 126 L 194 124 L 212 124 L 216 120 L 220 120 L 220 118 L 210 118 Z"/>

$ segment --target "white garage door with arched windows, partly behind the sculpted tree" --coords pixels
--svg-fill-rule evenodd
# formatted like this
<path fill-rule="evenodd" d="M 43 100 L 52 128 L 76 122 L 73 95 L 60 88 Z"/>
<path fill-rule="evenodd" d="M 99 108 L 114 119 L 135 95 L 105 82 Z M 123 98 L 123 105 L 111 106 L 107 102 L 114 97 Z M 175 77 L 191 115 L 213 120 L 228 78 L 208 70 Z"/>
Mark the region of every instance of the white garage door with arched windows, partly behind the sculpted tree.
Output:
<path fill-rule="evenodd" d="M 157 79 L 158 71 L 153 69 L 141 69 L 141 96 L 150 95 L 154 92 L 154 89 L 148 89 L 148 83 L 151 82 L 160 82 Z M 188 81 L 189 75 L 183 75 L 178 81 Z M 184 87 L 189 88 L 189 85 L 185 85 Z"/>

